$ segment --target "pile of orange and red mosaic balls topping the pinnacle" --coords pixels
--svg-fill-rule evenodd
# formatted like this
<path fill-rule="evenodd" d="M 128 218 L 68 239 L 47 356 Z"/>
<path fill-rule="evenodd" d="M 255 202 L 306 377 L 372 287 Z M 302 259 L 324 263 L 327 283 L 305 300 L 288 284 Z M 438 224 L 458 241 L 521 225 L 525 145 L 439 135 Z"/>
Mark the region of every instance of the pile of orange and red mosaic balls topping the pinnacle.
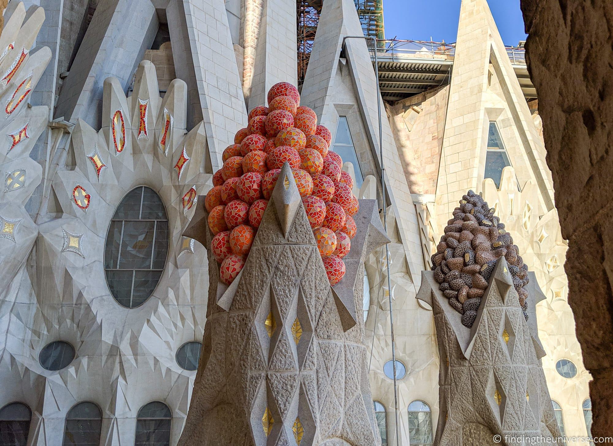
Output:
<path fill-rule="evenodd" d="M 284 163 L 289 163 L 319 254 L 331 285 L 345 275 L 345 257 L 356 235 L 352 216 L 359 202 L 351 175 L 331 151 L 330 130 L 317 123 L 311 108 L 300 105 L 298 89 L 280 82 L 268 91 L 268 107 L 249 111 L 248 127 L 238 130 L 224 150 L 223 166 L 213 174 L 205 197 L 211 251 L 220 263 L 219 278 L 231 284 L 245 265 L 268 199 Z"/>

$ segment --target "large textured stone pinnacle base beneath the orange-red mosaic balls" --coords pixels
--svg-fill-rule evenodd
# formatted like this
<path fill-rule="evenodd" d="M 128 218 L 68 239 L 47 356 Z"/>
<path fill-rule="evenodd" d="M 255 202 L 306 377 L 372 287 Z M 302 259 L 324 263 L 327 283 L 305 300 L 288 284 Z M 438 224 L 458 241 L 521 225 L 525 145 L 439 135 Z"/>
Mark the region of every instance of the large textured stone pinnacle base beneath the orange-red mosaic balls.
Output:
<path fill-rule="evenodd" d="M 179 445 L 380 444 L 356 309 L 364 259 L 387 237 L 375 200 L 360 200 L 355 220 L 345 277 L 330 287 L 284 165 L 243 270 L 227 287 L 209 269 L 204 346 Z M 210 246 L 204 206 L 188 235 Z"/>

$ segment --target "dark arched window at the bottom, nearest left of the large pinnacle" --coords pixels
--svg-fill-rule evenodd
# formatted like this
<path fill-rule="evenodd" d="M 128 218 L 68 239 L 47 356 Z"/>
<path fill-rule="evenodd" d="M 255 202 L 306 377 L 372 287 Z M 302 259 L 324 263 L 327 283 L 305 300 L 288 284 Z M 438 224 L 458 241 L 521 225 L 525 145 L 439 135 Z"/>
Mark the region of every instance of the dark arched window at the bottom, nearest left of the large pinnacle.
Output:
<path fill-rule="evenodd" d="M 170 409 L 160 401 L 145 404 L 136 420 L 134 446 L 170 445 Z"/>

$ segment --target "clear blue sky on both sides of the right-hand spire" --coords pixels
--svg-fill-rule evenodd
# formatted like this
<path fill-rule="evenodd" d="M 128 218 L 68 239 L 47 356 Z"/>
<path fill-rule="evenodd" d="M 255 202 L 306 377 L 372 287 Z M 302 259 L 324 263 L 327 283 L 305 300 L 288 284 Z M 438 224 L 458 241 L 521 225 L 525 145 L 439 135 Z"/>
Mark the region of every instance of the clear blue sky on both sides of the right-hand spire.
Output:
<path fill-rule="evenodd" d="M 505 45 L 526 39 L 519 0 L 488 0 Z M 386 39 L 455 42 L 460 0 L 383 0 Z"/>

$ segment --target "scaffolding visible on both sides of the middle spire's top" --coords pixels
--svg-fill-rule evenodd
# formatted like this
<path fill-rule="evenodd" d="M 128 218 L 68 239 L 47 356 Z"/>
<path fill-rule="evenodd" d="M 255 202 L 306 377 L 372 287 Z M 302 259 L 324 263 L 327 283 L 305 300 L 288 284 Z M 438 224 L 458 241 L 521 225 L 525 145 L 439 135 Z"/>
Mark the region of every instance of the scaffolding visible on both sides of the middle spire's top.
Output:
<path fill-rule="evenodd" d="M 299 85 L 302 85 L 305 74 L 307 74 L 308 59 L 313 49 L 322 4 L 323 0 L 296 1 Z M 354 4 L 362 24 L 364 36 L 384 39 L 383 0 L 354 0 Z"/>

